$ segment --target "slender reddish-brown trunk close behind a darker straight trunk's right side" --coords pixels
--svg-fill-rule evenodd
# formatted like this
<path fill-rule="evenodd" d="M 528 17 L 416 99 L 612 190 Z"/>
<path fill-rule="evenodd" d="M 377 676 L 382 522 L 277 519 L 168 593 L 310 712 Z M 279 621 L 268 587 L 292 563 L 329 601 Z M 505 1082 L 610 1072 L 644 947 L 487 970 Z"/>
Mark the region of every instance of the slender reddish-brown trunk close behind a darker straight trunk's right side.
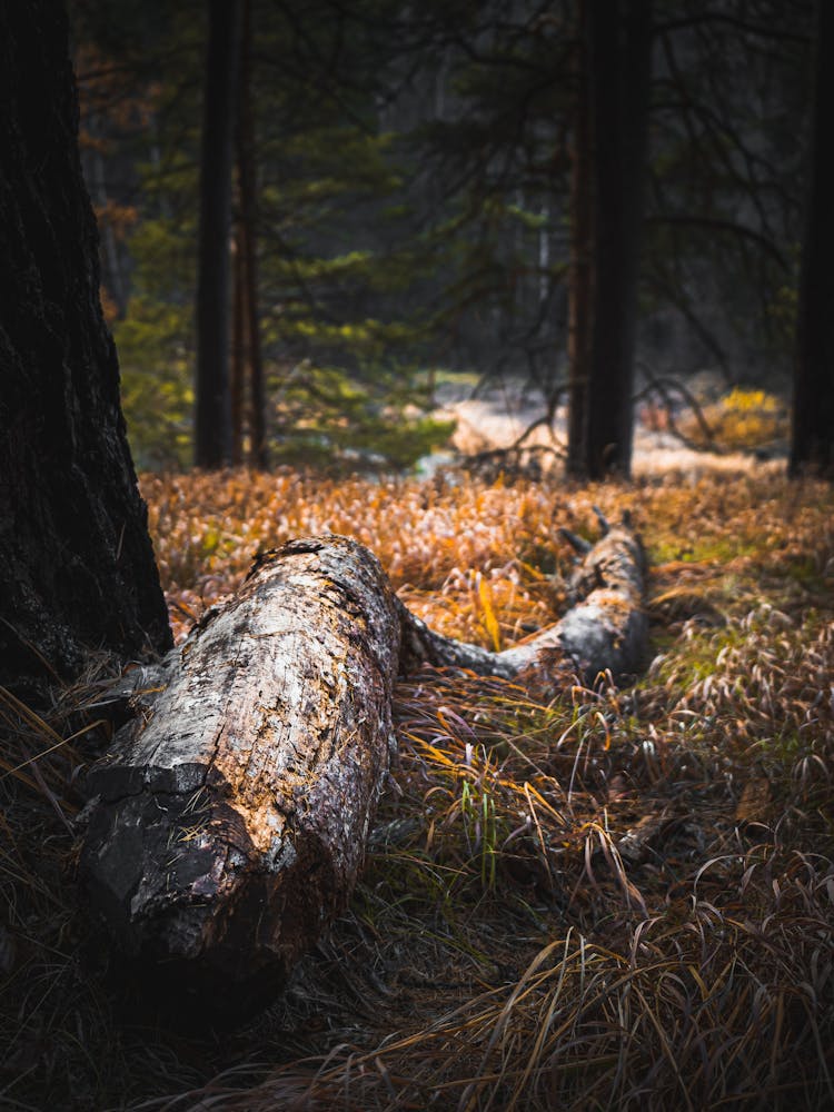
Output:
<path fill-rule="evenodd" d="M 264 358 L 258 311 L 258 200 L 255 169 L 255 120 L 251 97 L 251 0 L 242 0 L 244 23 L 240 49 L 240 103 L 238 111 L 238 181 L 240 186 L 240 228 L 244 259 L 244 299 L 247 354 L 249 361 L 250 463 L 269 466 L 266 436 L 266 397 Z"/>

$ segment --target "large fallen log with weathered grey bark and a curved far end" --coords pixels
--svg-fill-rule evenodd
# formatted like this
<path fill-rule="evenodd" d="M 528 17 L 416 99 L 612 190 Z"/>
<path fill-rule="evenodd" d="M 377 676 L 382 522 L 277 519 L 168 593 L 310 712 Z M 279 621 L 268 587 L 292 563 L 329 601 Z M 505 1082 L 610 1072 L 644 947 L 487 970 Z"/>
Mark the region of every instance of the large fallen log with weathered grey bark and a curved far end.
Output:
<path fill-rule="evenodd" d="M 493 654 L 433 634 L 376 557 L 328 536 L 255 564 L 131 698 L 88 775 L 81 856 L 120 949 L 221 1004 L 271 991 L 347 903 L 394 746 L 398 672 L 636 672 L 643 557 L 627 527 L 585 555 L 575 605 Z"/>

